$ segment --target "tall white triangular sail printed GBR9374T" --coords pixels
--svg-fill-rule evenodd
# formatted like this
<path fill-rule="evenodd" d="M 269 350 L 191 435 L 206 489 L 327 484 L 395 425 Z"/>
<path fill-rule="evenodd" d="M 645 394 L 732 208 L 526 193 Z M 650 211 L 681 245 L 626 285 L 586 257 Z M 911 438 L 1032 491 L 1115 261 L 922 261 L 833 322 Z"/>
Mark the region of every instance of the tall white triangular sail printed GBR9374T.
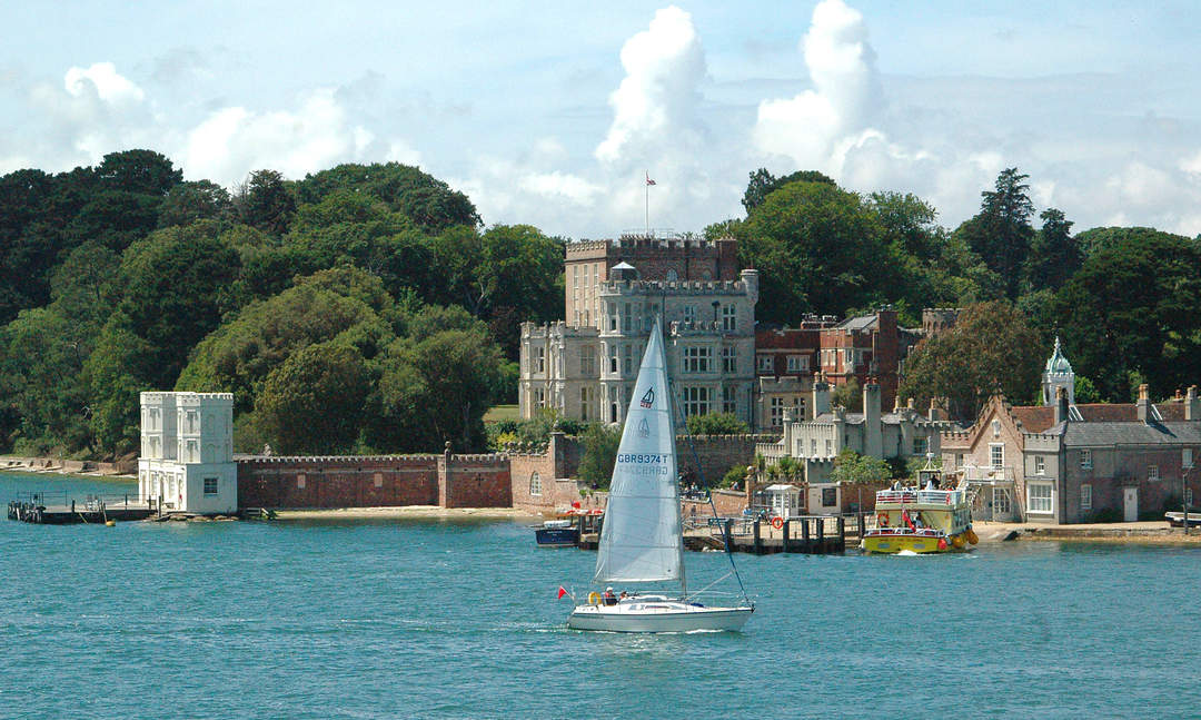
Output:
<path fill-rule="evenodd" d="M 597 553 L 596 581 L 685 584 L 675 426 L 667 353 L 651 331 L 626 411 Z"/>

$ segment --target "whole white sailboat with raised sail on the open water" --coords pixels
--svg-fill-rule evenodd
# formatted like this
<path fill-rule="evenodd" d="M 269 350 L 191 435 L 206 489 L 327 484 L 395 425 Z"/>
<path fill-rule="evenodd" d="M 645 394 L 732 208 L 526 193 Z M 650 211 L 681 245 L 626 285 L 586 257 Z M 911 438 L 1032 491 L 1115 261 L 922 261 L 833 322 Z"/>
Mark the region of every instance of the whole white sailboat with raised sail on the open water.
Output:
<path fill-rule="evenodd" d="M 729 549 L 727 548 L 729 553 Z M 734 557 L 729 555 L 733 566 Z M 737 575 L 734 567 L 733 573 Z M 679 595 L 590 594 L 567 619 L 575 630 L 688 632 L 739 630 L 754 605 L 705 606 L 688 594 L 683 525 L 676 476 L 675 423 L 668 387 L 667 353 L 658 320 L 651 329 L 613 469 L 593 582 L 679 583 Z M 739 581 L 741 585 L 741 581 Z"/>

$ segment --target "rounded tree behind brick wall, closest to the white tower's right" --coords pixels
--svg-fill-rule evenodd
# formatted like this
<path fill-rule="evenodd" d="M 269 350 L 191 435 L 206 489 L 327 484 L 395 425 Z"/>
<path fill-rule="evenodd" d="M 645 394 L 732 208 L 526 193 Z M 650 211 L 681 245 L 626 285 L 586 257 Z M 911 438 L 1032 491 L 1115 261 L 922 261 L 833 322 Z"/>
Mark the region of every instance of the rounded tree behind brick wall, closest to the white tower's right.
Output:
<path fill-rule="evenodd" d="M 255 400 L 259 430 L 283 453 L 347 453 L 366 417 L 370 373 L 353 347 L 309 345 L 274 368 Z"/>

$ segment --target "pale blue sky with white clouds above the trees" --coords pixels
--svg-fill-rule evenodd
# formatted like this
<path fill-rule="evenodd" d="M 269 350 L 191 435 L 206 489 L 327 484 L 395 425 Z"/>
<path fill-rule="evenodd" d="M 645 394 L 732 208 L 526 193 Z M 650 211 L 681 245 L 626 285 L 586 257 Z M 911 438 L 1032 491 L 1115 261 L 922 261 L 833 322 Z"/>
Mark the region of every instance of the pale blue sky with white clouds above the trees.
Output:
<path fill-rule="evenodd" d="M 1077 231 L 1201 233 L 1193 2 L 584 5 L 0 0 L 0 173 L 398 161 L 582 239 L 742 218 L 759 167 L 955 227 L 1017 167 Z"/>

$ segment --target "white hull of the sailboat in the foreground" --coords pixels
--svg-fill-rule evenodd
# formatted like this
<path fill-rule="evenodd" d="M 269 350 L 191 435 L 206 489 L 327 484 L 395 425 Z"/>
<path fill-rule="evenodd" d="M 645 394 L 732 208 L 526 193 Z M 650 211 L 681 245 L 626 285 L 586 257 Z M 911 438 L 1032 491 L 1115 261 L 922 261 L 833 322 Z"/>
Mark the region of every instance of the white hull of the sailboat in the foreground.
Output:
<path fill-rule="evenodd" d="M 567 626 L 604 632 L 734 631 L 741 630 L 753 612 L 753 607 L 697 607 L 682 602 L 581 605 L 567 618 Z"/>

